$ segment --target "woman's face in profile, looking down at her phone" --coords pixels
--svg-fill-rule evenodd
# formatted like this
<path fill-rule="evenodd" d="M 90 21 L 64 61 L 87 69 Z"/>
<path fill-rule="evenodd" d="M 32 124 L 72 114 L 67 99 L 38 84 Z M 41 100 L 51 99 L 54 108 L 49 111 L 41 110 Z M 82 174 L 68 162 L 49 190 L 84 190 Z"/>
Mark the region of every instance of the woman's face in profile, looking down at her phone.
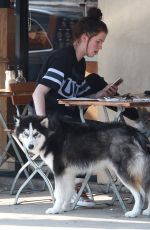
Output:
<path fill-rule="evenodd" d="M 95 56 L 100 49 L 102 49 L 103 42 L 105 41 L 107 34 L 105 32 L 100 32 L 96 36 L 87 40 L 87 50 L 86 55 L 88 57 Z M 88 38 L 89 39 L 89 38 Z"/>

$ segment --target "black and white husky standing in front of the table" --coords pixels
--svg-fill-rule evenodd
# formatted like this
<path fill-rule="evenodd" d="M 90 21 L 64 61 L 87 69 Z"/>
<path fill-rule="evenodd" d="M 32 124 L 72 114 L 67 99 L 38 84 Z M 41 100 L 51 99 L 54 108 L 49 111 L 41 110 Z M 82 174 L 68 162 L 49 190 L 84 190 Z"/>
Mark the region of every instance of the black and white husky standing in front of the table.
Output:
<path fill-rule="evenodd" d="M 77 174 L 111 167 L 132 193 L 135 203 L 126 217 L 142 212 L 145 198 L 150 215 L 150 143 L 137 129 L 120 123 L 51 120 L 47 117 L 17 118 L 16 136 L 26 149 L 39 152 L 55 178 L 55 204 L 46 213 L 67 211 Z"/>

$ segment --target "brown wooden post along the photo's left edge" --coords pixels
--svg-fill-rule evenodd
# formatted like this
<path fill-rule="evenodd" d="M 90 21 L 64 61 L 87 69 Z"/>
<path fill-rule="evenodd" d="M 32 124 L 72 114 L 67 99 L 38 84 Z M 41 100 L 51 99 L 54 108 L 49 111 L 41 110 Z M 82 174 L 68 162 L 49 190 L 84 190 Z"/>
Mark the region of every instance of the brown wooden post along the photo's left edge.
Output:
<path fill-rule="evenodd" d="M 0 8 L 0 88 L 5 85 L 5 70 L 8 64 L 15 62 L 15 14 L 14 9 Z M 9 123 L 11 113 L 10 100 L 0 97 L 0 110 Z M 7 142 L 7 136 L 0 126 L 0 144 Z M 1 154 L 1 153 L 0 153 Z"/>

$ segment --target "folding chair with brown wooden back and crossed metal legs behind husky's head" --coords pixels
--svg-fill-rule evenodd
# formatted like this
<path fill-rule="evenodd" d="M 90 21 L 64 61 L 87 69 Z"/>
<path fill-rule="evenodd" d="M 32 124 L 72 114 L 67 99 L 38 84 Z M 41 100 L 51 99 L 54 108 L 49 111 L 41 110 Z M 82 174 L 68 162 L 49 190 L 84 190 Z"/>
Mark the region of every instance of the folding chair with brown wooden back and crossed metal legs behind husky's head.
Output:
<path fill-rule="evenodd" d="M 17 83 L 17 84 L 15 83 L 15 84 L 10 85 L 10 90 L 12 92 L 11 99 L 12 99 L 13 105 L 16 107 L 17 115 L 27 115 L 29 113 L 32 113 L 32 110 L 31 110 L 29 103 L 32 100 L 32 93 L 33 93 L 34 89 L 35 89 L 35 82 L 26 82 L 26 83 Z M 21 107 L 22 113 L 20 112 L 20 107 Z M 22 165 L 22 167 L 20 168 L 20 170 L 18 171 L 18 173 L 17 173 L 17 175 L 13 181 L 13 184 L 12 184 L 12 187 L 10 190 L 10 194 L 14 193 L 15 185 L 16 185 L 17 180 L 20 177 L 21 173 L 23 171 L 28 172 L 27 179 L 24 181 L 24 183 L 21 185 L 21 187 L 17 191 L 15 204 L 17 204 L 20 193 L 22 192 L 24 187 L 29 182 L 30 182 L 31 188 L 34 189 L 34 186 L 33 186 L 31 179 L 37 173 L 44 180 L 43 189 L 45 188 L 45 184 L 47 185 L 49 192 L 50 192 L 50 195 L 51 195 L 51 198 L 52 198 L 52 202 L 54 203 L 53 187 L 52 187 L 50 180 L 48 179 L 50 169 L 47 167 L 46 172 L 45 172 L 45 164 L 41 160 L 41 158 L 39 157 L 38 153 L 37 153 L 37 155 L 33 155 L 33 154 L 29 153 L 24 148 L 24 146 L 21 144 L 21 142 L 17 139 L 17 137 L 15 136 L 15 134 L 13 132 L 11 133 L 11 136 L 12 136 L 13 140 L 15 141 L 15 143 L 17 143 L 19 148 L 25 154 L 25 156 L 27 158 L 27 162 L 24 163 Z M 29 175 L 29 171 L 27 170 L 28 168 L 30 169 L 30 175 Z"/>

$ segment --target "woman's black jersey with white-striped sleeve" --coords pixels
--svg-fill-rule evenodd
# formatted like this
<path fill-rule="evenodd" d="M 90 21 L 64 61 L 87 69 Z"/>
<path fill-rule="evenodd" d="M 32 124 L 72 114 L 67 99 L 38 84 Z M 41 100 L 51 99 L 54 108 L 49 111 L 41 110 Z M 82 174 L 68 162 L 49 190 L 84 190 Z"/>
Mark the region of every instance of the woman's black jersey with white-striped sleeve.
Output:
<path fill-rule="evenodd" d="M 54 98 L 82 97 L 90 89 L 85 80 L 85 59 L 77 61 L 72 46 L 51 52 L 39 83 L 50 87 Z"/>

